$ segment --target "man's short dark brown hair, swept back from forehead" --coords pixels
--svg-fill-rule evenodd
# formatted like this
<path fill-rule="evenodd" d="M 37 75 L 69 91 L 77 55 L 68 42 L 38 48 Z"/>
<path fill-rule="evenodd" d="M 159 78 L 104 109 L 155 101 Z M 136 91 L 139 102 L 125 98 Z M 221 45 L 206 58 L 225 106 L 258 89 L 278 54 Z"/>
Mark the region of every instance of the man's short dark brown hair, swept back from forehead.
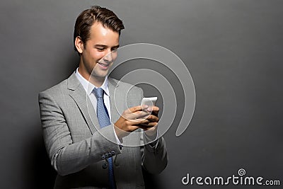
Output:
<path fill-rule="evenodd" d="M 96 21 L 102 23 L 105 28 L 110 28 L 111 30 L 119 33 L 119 35 L 121 30 L 125 28 L 123 22 L 109 9 L 100 6 L 91 6 L 91 8 L 81 12 L 78 18 L 76 18 L 74 27 L 74 42 L 76 37 L 79 36 L 83 44 L 86 44 L 86 41 L 89 39 L 91 26 Z M 74 49 L 76 50 L 75 45 Z M 76 50 L 76 52 L 78 52 L 78 50 Z"/>

